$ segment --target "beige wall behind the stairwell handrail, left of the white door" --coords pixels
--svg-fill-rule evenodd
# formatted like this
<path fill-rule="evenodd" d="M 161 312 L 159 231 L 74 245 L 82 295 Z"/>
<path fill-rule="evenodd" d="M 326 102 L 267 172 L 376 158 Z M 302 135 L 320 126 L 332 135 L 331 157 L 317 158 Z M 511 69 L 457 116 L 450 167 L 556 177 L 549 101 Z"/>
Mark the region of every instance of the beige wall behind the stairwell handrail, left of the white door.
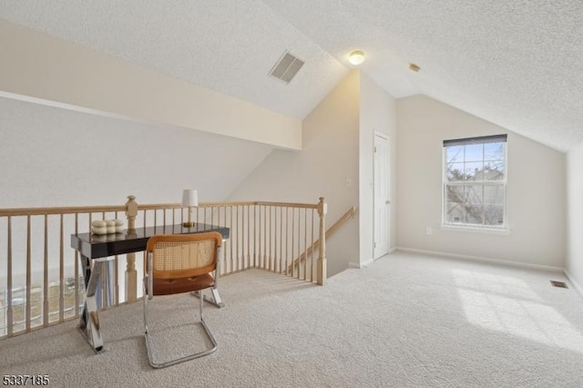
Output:
<path fill-rule="evenodd" d="M 303 120 L 302 151 L 275 149 L 233 191 L 230 200 L 328 203 L 327 226 L 358 205 L 360 75 L 352 72 Z M 352 180 L 347 187 L 346 179 Z M 359 254 L 358 220 L 326 240 L 328 276 Z"/>

